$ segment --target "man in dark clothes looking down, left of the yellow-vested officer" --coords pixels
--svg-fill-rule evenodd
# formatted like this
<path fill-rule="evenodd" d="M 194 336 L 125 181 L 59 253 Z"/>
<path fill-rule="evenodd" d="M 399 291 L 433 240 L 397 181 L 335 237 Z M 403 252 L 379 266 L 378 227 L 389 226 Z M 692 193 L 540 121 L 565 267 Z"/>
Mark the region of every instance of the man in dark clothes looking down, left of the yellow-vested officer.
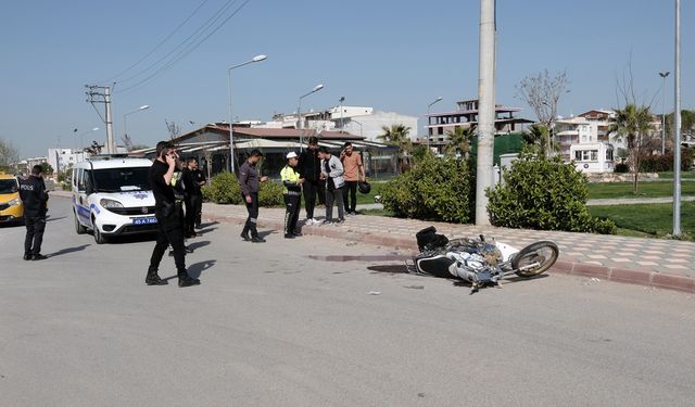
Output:
<path fill-rule="evenodd" d="M 249 217 L 241 231 L 241 239 L 253 243 L 263 243 L 265 239 L 258 236 L 256 224 L 258 221 L 258 191 L 261 182 L 268 180 L 268 177 L 262 177 L 256 170 L 256 164 L 263 157 L 258 150 L 252 150 L 247 162 L 239 168 L 239 187 L 241 187 L 241 199 L 247 204 Z M 251 232 L 251 237 L 249 237 Z"/>

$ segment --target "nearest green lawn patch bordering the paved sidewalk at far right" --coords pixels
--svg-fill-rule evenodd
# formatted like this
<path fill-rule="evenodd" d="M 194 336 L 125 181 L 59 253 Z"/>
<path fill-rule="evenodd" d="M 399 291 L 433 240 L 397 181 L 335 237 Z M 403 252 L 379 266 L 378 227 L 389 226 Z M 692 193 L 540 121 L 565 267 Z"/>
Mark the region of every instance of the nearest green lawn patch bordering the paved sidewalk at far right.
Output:
<path fill-rule="evenodd" d="M 618 234 L 664 238 L 673 229 L 672 204 L 589 206 L 592 216 L 612 219 Z M 695 203 L 681 204 L 681 232 L 695 238 Z"/>

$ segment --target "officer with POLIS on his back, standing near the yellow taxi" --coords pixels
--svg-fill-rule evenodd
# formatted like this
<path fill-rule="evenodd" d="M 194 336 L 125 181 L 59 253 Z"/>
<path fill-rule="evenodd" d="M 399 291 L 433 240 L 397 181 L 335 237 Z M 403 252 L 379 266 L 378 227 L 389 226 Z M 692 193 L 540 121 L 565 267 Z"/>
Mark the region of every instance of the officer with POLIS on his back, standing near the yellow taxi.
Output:
<path fill-rule="evenodd" d="M 46 229 L 46 213 L 48 212 L 48 192 L 42 178 L 40 165 L 31 167 L 31 174 L 20 181 L 20 198 L 24 203 L 24 224 L 26 238 L 24 239 L 24 259 L 42 260 L 48 257 L 41 254 L 41 242 Z"/>

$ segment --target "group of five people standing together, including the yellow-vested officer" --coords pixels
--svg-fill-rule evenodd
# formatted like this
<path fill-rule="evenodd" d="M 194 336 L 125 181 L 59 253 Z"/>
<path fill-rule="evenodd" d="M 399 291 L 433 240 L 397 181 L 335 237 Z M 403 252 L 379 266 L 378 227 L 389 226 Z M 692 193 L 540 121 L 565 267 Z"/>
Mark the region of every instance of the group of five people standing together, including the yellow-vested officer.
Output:
<path fill-rule="evenodd" d="M 261 182 L 268 177 L 261 177 L 255 168 L 263 154 L 253 150 L 244 164 L 239 168 L 239 185 L 247 204 L 249 217 L 241 232 L 244 241 L 265 242 L 258 237 L 256 229 L 258 217 L 258 190 Z M 341 225 L 345 215 L 356 215 L 357 183 L 366 181 L 365 167 L 359 153 L 345 142 L 340 156 L 331 154 L 325 147 L 318 145 L 318 139 L 311 137 L 306 150 L 300 155 L 290 152 L 286 156 L 287 165 L 280 171 L 285 187 L 285 238 L 294 239 L 302 233 L 298 228 L 301 199 L 304 195 L 306 211 L 305 225 Z M 317 196 L 324 196 L 326 217 L 323 221 L 314 217 Z M 333 204 L 338 206 L 338 219 L 333 220 Z M 251 236 L 249 236 L 251 232 Z"/>

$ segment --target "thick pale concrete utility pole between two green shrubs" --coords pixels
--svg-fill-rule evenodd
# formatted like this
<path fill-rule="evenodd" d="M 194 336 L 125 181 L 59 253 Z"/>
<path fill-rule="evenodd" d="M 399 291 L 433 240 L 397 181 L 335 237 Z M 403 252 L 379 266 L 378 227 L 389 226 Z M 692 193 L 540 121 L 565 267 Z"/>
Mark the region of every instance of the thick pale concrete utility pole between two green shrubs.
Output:
<path fill-rule="evenodd" d="M 495 0 L 480 0 L 478 73 L 478 164 L 476 167 L 476 225 L 490 225 L 485 189 L 493 185 L 495 143 Z"/>

